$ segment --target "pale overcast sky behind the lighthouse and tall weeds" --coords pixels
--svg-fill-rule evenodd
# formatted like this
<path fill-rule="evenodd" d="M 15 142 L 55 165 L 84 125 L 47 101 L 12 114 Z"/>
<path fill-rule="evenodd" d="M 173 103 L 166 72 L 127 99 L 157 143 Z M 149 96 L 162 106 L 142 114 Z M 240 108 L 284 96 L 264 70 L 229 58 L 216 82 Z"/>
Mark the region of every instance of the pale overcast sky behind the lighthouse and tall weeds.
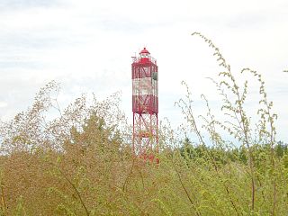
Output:
<path fill-rule="evenodd" d="M 288 142 L 287 11 L 286 0 L 0 0 L 0 118 L 25 110 L 41 86 L 56 80 L 63 104 L 82 93 L 121 91 L 131 119 L 130 57 L 146 46 L 159 67 L 159 117 L 177 124 L 182 80 L 196 111 L 200 94 L 212 104 L 220 100 L 205 78 L 217 77 L 220 67 L 207 44 L 191 36 L 201 31 L 235 74 L 243 67 L 263 74 L 279 114 L 278 139 Z M 251 98 L 257 106 L 253 91 Z"/>

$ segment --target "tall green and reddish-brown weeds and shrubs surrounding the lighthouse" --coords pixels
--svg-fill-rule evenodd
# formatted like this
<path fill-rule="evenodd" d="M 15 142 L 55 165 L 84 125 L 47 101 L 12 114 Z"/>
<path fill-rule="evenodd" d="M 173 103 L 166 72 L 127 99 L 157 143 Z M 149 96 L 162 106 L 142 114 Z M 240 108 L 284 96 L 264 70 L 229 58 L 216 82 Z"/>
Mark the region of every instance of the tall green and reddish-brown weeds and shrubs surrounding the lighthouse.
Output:
<path fill-rule="evenodd" d="M 145 163 L 131 155 L 118 94 L 90 103 L 83 95 L 61 110 L 51 82 L 31 108 L 1 124 L 0 215 L 286 215 L 287 145 L 276 141 L 277 116 L 261 75 L 242 70 L 259 83 L 252 118 L 247 81 L 239 85 L 211 40 L 194 35 L 220 63 L 213 82 L 226 121 L 216 119 L 204 96 L 207 113 L 195 117 L 187 88 L 176 104 L 183 134 L 197 142 L 162 124 L 160 163 Z M 51 113 L 57 116 L 49 120 Z"/>

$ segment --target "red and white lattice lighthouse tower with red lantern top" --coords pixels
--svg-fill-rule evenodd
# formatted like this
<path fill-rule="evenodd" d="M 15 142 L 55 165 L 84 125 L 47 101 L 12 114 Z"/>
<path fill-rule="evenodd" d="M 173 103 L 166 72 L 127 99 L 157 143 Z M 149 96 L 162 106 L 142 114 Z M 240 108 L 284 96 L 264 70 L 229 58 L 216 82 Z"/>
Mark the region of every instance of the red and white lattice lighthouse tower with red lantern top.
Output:
<path fill-rule="evenodd" d="M 153 161 L 158 153 L 158 67 L 146 48 L 132 63 L 133 153 Z"/>

